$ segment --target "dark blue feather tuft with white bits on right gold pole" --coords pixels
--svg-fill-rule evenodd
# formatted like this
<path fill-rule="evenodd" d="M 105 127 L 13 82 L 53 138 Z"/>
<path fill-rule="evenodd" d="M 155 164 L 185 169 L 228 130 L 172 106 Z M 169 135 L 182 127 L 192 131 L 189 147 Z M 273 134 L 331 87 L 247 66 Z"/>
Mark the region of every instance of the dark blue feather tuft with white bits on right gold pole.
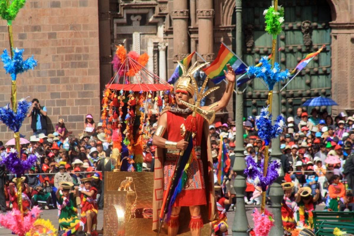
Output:
<path fill-rule="evenodd" d="M 272 125 L 272 115 L 269 114 L 268 107 L 261 110 L 261 114 L 256 116 L 256 126 L 258 129 L 258 137 L 268 146 L 272 138 L 276 138 L 285 127 L 285 119 L 282 114 L 276 117 L 274 125 Z"/>

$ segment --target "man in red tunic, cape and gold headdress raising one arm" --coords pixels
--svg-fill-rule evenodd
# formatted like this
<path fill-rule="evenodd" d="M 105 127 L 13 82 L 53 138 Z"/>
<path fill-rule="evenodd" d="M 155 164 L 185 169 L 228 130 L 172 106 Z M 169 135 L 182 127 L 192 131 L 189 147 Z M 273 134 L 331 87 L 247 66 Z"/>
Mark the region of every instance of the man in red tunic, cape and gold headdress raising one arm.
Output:
<path fill-rule="evenodd" d="M 188 71 L 182 64 L 179 65 L 183 75 L 178 79 L 175 87 L 177 106 L 166 107 L 161 112 L 158 127 L 153 136 L 153 145 L 157 146 L 154 172 L 153 230 L 157 230 L 159 227 L 159 213 L 163 197 L 175 170 L 179 151 L 186 150 L 188 146 L 188 142 L 184 141 L 184 122 L 192 110 L 183 105 L 179 99 L 192 103 L 195 90 L 191 79 L 193 73 L 205 64 L 196 68 L 194 64 Z M 228 104 L 233 93 L 235 73 L 230 65 L 227 65 L 227 68 L 228 71 L 224 70 L 224 73 L 229 83 L 221 100 L 209 107 L 202 107 L 202 109 L 217 112 Z M 191 216 L 189 228 L 193 236 L 199 236 L 202 226 L 217 218 L 209 123 L 199 114 L 196 114 L 196 119 L 198 122 L 197 132 L 193 134 L 193 159 L 187 169 L 185 185 L 176 198 L 170 220 L 167 222 L 169 236 L 175 236 L 178 233 L 181 207 L 189 207 Z M 184 232 L 186 229 L 181 229 L 182 231 Z"/>

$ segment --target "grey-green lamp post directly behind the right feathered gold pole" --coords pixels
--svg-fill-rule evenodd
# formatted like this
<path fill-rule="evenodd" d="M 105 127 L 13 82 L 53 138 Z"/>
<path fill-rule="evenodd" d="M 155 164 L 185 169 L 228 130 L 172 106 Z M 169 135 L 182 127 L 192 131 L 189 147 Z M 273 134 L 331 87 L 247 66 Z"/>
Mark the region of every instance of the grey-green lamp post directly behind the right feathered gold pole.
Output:
<path fill-rule="evenodd" d="M 272 115 L 273 117 L 277 117 L 280 111 L 280 102 L 279 102 L 279 83 L 275 83 L 273 89 L 273 106 L 272 106 Z M 272 139 L 272 153 L 270 154 L 273 160 L 279 160 L 280 156 L 282 155 L 280 152 L 280 137 L 276 139 Z M 282 189 L 280 183 L 281 180 L 284 178 L 284 173 L 281 171 L 279 178 L 270 185 L 269 189 L 269 197 L 272 201 L 272 213 L 274 216 L 274 226 L 270 230 L 269 235 L 283 235 L 284 228 L 282 225 L 281 219 L 281 201 L 284 197 L 284 190 Z"/>

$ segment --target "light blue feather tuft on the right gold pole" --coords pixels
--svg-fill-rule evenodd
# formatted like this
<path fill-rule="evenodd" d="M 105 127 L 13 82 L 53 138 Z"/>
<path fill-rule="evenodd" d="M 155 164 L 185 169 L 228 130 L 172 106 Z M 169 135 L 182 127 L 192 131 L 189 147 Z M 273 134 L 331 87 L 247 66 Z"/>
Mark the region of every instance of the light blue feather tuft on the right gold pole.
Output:
<path fill-rule="evenodd" d="M 272 65 L 269 64 L 268 57 L 262 57 L 259 61 L 262 63 L 260 67 L 256 67 L 254 65 L 247 68 L 248 76 L 256 76 L 264 80 L 264 82 L 268 85 L 269 91 L 273 90 L 273 87 L 276 82 L 283 81 L 290 76 L 289 70 L 281 71 L 279 64 L 274 63 L 274 67 L 272 69 Z"/>

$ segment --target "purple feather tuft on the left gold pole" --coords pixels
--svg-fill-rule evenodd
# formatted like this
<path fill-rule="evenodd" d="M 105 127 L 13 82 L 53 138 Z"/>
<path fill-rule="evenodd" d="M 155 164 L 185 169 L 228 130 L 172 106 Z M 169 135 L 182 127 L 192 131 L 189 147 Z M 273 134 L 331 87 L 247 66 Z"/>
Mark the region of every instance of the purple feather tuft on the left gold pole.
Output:
<path fill-rule="evenodd" d="M 13 149 L 6 157 L 4 157 L 1 161 L 1 165 L 5 165 L 9 172 L 17 175 L 23 175 L 34 165 L 36 161 L 37 157 L 34 154 L 30 154 L 27 157 L 27 160 L 23 161 L 21 158 L 18 158 L 17 152 Z"/>

